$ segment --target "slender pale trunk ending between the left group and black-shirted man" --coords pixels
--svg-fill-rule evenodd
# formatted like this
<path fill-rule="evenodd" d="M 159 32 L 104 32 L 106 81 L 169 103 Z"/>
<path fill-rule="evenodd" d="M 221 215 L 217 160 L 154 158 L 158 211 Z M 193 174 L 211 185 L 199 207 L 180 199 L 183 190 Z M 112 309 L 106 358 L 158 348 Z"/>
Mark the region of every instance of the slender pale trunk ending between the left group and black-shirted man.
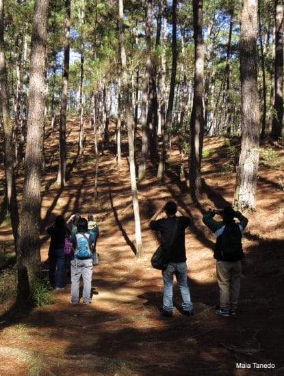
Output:
<path fill-rule="evenodd" d="M 135 221 L 135 240 L 136 240 L 136 256 L 142 255 L 142 237 L 141 237 L 141 225 L 140 225 L 140 212 L 139 212 L 139 200 L 138 189 L 136 185 L 136 172 L 135 172 L 135 155 L 134 155 L 134 142 L 133 142 L 133 121 L 131 120 L 131 101 L 128 86 L 127 77 L 127 61 L 125 53 L 125 36 L 123 25 L 123 0 L 119 0 L 119 26 L 120 26 L 120 58 L 122 68 L 122 92 L 125 98 L 125 113 L 127 122 L 127 135 L 129 146 L 129 169 L 131 179 L 131 194 L 133 202 L 133 213 Z"/>

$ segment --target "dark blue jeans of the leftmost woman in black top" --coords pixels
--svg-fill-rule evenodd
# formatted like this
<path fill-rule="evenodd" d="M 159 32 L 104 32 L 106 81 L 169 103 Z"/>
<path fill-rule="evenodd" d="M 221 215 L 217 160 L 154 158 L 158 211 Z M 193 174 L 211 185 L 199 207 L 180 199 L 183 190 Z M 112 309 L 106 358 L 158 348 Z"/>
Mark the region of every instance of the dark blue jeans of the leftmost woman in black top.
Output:
<path fill-rule="evenodd" d="M 65 253 L 63 249 L 49 250 L 49 282 L 51 286 L 64 287 Z"/>

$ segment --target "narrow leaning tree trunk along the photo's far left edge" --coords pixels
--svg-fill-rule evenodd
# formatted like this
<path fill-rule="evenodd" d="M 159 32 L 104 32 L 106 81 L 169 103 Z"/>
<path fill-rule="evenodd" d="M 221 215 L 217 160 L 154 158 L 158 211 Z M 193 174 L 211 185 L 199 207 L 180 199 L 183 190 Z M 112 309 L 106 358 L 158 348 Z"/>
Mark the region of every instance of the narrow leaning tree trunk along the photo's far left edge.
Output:
<path fill-rule="evenodd" d="M 9 98 L 7 85 L 7 70 L 5 64 L 4 48 L 4 4 L 0 0 L 0 85 L 1 85 L 1 110 L 4 129 L 4 165 L 5 165 L 5 196 L 7 208 L 3 208 L 10 213 L 11 224 L 14 236 L 15 252 L 18 254 L 18 205 L 16 200 L 16 184 L 14 177 L 14 149 L 12 144 L 12 121 L 9 114 Z"/>

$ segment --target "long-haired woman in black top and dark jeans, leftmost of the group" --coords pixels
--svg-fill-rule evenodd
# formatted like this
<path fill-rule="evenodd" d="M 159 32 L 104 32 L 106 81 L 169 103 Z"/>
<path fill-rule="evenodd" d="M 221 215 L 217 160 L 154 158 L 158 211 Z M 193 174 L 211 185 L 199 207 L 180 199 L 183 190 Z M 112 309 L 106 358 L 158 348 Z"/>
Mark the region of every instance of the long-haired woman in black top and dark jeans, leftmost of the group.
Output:
<path fill-rule="evenodd" d="M 69 237 L 70 234 L 64 217 L 58 215 L 53 226 L 49 227 L 47 232 L 51 235 L 49 245 L 49 282 L 56 290 L 64 290 L 64 243 L 65 237 Z"/>

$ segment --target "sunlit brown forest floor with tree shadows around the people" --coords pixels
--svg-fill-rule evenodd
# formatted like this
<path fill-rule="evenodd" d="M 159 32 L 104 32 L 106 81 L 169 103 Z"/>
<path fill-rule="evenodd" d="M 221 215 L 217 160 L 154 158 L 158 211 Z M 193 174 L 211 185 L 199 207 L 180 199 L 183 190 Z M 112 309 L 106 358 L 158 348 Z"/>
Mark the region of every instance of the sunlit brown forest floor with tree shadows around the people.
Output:
<path fill-rule="evenodd" d="M 46 132 L 46 174 L 42 177 L 42 270 L 47 276 L 49 237 L 46 228 L 55 215 L 94 213 L 101 236 L 99 265 L 94 267 L 90 306 L 69 304 L 70 280 L 65 291 L 54 293 L 55 304 L 34 308 L 15 322 L 7 319 L 13 301 L 1 307 L 0 375 L 283 375 L 283 170 L 259 166 L 257 210 L 248 214 L 244 234 L 242 291 L 236 317 L 218 317 L 219 302 L 213 235 L 201 217 L 209 207 L 231 202 L 235 186 L 233 167 L 227 166 L 229 148 L 222 137 L 205 139 L 203 198 L 192 204 L 186 181 L 179 177 L 179 150 L 172 144 L 166 182 L 157 184 L 156 169 L 148 168 L 139 185 L 143 254 L 134 255 L 135 237 L 127 138 L 122 163 L 116 163 L 114 129 L 109 148 L 99 161 L 99 200 L 94 202 L 94 141 L 86 126 L 86 149 L 77 156 L 77 120 L 68 122 L 68 170 L 64 190 L 54 184 L 58 165 L 57 131 Z M 237 139 L 231 146 L 240 148 Z M 283 148 L 266 139 L 261 146 L 283 157 Z M 3 160 L 1 160 L 3 198 Z M 232 170 L 231 172 L 229 170 Z M 23 176 L 18 177 L 21 191 Z M 21 195 L 18 196 L 21 199 Z M 151 267 L 157 247 L 147 224 L 157 207 L 174 199 L 190 215 L 186 235 L 188 280 L 194 316 L 181 314 L 175 285 L 175 312 L 159 314 L 161 273 Z M 0 227 L 1 252 L 12 244 L 10 226 Z M 5 319 L 3 319 L 5 317 Z M 237 369 L 236 363 L 251 365 Z M 274 369 L 253 363 L 275 364 Z"/>

